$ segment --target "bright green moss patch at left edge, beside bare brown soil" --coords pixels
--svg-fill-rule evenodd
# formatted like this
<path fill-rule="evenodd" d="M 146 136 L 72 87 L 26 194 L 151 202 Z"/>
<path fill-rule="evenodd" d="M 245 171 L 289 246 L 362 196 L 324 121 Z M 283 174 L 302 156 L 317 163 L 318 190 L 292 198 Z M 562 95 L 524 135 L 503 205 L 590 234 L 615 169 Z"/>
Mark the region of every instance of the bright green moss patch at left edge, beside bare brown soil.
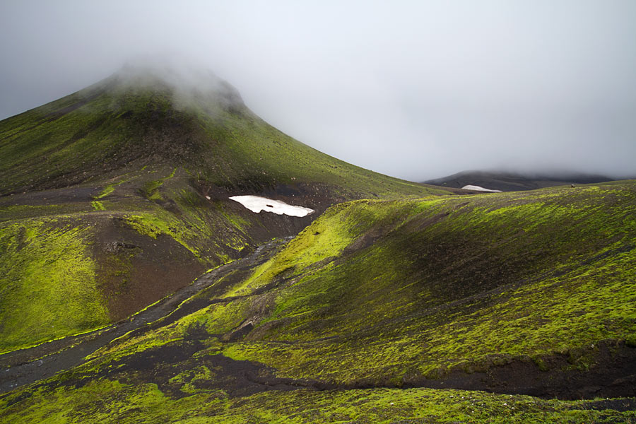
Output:
<path fill-rule="evenodd" d="M 108 322 L 87 233 L 54 218 L 0 225 L 0 353 Z"/>

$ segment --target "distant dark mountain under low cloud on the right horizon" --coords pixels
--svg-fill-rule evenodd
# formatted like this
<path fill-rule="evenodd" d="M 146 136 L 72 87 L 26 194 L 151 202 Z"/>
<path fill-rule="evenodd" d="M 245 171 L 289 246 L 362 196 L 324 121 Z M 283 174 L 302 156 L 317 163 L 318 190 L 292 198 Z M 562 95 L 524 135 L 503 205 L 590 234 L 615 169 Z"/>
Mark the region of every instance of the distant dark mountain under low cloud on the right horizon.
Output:
<path fill-rule="evenodd" d="M 429 179 L 425 184 L 458 189 L 466 185 L 475 185 L 485 189 L 500 190 L 502 192 L 517 192 L 560 185 L 593 184 L 607 181 L 613 181 L 613 178 L 604 175 L 571 172 L 561 174 L 532 174 L 523 172 L 464 171 L 449 175 L 448 177 Z"/>

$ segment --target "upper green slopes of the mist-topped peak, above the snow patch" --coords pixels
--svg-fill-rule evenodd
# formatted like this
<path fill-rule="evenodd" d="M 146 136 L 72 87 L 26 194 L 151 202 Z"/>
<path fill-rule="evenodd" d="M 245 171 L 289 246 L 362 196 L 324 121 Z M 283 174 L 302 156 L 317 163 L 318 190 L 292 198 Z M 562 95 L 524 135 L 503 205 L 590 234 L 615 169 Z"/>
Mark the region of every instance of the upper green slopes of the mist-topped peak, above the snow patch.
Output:
<path fill-rule="evenodd" d="M 184 167 L 208 189 L 319 183 L 349 198 L 448 193 L 320 153 L 266 124 L 227 83 L 216 84 L 200 90 L 152 73 L 119 73 L 4 119 L 0 194 L 94 182 L 157 163 Z"/>

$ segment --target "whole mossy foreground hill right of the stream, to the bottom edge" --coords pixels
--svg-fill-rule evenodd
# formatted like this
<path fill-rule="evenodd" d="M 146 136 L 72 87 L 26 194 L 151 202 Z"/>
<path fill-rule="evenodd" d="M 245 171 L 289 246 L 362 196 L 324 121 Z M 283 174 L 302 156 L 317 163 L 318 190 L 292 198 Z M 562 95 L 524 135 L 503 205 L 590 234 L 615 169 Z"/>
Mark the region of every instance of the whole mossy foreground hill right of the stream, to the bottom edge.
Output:
<path fill-rule="evenodd" d="M 633 181 L 338 204 L 1 416 L 632 422 L 635 240 Z"/>

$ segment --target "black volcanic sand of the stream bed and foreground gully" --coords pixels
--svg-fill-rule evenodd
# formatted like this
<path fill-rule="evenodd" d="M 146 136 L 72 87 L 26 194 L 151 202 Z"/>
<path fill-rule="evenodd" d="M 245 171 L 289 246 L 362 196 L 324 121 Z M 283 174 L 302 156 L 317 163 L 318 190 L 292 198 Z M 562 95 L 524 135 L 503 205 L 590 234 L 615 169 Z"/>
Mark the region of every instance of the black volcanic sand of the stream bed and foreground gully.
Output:
<path fill-rule="evenodd" d="M 246 278 L 255 266 L 263 264 L 273 254 L 280 251 L 289 239 L 273 240 L 259 247 L 245 259 L 234 261 L 205 273 L 194 283 L 177 293 L 157 302 L 139 314 L 122 322 L 90 334 L 51 341 L 30 349 L 14 351 L 0 356 L 0 391 L 6 392 L 51 377 L 57 372 L 70 370 L 86 363 L 87 355 L 106 346 L 115 338 L 129 333 L 129 336 L 143 334 L 176 322 L 179 318 L 196 312 L 215 302 L 231 302 L 235 298 L 214 298 L 223 293 L 232 282 Z M 214 284 L 217 281 L 219 284 Z M 259 292 L 271 290 L 265 286 Z M 250 326 L 245 327 L 249 331 Z M 245 360 L 232 360 L 223 355 L 196 355 L 208 347 L 204 341 L 211 336 L 232 341 L 242 334 L 208 334 L 201 331 L 189 331 L 183 341 L 168 343 L 165 346 L 149 348 L 140 353 L 114 360 L 109 367 L 100 367 L 97 373 L 89 375 L 80 371 L 71 372 L 57 382 L 49 384 L 81 387 L 96 377 L 110 377 L 133 384 L 155 383 L 173 398 L 186 396 L 180 390 L 183 383 L 170 382 L 180 372 L 205 365 L 215 373 L 213 378 L 196 384 L 204 384 L 200 389 L 221 389 L 228 396 L 249 396 L 266 390 L 292 390 L 300 387 L 307 389 L 365 389 L 372 387 L 396 387 L 390 384 L 365 384 L 360 381 L 351 385 L 327 384 L 312 379 L 289 379 L 276 377 L 276 370 L 260 363 Z M 444 389 L 484 390 L 502 394 L 528 394 L 543 398 L 593 399 L 595 397 L 635 396 L 636 348 L 625 343 L 604 343 L 597 346 L 596 365 L 586 372 L 560 370 L 567 365 L 565 355 L 552 355 L 544 358 L 550 364 L 549 370 L 542 371 L 532 360 L 512 359 L 507 363 L 483 370 L 452 370 L 440 379 L 405 379 L 399 387 L 429 387 Z M 632 377 L 628 377 L 632 376 Z M 18 399 L 19 400 L 19 399 Z M 629 410 L 634 405 L 625 406 L 624 399 L 620 408 Z M 590 408 L 595 406 L 590 405 Z M 599 409 L 609 408 L 605 401 L 598 402 Z"/>

